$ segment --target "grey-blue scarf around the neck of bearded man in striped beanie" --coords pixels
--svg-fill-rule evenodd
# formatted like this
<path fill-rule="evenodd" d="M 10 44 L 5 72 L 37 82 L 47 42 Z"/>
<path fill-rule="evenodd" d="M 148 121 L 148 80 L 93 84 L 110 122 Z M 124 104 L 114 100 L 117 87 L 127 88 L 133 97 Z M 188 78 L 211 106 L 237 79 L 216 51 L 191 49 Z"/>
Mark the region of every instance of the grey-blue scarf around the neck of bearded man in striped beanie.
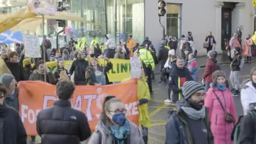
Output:
<path fill-rule="evenodd" d="M 200 110 L 193 109 L 192 107 L 181 107 L 181 109 L 193 120 L 205 118 L 205 107 L 202 107 Z"/>

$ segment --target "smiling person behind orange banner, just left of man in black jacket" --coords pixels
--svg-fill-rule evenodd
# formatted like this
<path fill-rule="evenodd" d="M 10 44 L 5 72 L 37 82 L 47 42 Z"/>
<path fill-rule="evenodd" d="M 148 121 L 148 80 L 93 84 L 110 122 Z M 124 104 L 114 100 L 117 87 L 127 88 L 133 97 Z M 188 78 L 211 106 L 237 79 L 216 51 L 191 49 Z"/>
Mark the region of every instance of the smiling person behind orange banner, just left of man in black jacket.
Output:
<path fill-rule="evenodd" d="M 68 71 L 64 68 L 64 59 L 58 59 L 57 67 L 53 69 L 53 76 L 55 80 L 55 84 L 57 84 L 61 79 L 67 78 Z"/>

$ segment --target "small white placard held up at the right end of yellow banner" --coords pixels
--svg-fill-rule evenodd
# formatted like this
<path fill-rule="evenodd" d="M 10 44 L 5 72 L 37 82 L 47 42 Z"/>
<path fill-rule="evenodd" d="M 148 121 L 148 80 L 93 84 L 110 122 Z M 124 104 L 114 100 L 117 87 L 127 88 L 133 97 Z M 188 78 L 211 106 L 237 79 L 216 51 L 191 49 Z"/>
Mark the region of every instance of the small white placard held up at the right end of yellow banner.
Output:
<path fill-rule="evenodd" d="M 139 57 L 131 57 L 131 77 L 140 78 L 141 77 L 141 60 Z"/>

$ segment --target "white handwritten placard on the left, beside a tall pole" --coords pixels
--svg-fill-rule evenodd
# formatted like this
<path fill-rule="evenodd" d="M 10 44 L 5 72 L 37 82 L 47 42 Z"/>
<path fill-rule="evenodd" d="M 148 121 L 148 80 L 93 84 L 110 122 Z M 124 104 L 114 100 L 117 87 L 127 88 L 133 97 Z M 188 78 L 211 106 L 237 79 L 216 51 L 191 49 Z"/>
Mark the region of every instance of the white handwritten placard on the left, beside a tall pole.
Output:
<path fill-rule="evenodd" d="M 40 44 L 37 35 L 23 35 L 25 56 L 31 58 L 40 58 Z"/>

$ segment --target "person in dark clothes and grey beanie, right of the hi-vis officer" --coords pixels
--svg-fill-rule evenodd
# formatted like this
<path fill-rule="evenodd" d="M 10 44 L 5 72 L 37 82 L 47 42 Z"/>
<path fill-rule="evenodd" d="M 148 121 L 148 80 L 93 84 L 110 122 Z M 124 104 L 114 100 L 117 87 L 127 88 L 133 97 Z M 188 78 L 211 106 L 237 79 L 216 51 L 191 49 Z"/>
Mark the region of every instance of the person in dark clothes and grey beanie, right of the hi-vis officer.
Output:
<path fill-rule="evenodd" d="M 168 59 L 168 48 L 165 48 L 165 40 L 161 40 L 160 42 L 160 48 L 158 51 L 158 61 L 160 62 L 160 72 L 162 71 L 162 69 L 164 68 L 165 62 Z M 161 72 L 162 73 L 162 72 Z M 160 77 L 160 82 L 166 82 L 165 76 L 161 75 Z"/>

